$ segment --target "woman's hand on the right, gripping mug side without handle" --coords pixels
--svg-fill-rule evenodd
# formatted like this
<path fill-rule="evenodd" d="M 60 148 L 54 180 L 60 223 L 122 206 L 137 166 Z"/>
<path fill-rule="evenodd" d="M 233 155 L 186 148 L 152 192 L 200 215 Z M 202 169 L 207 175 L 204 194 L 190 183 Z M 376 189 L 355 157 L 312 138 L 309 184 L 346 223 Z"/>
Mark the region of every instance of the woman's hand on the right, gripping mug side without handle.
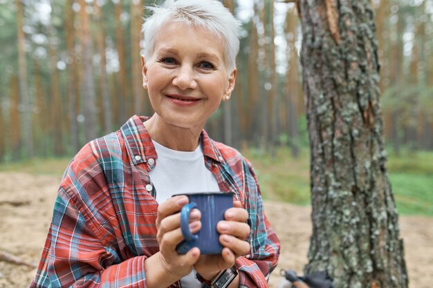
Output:
<path fill-rule="evenodd" d="M 241 202 L 234 201 L 234 207 L 225 211 L 225 221 L 220 221 L 216 229 L 221 234 L 219 242 L 223 251 L 219 255 L 203 255 L 195 263 L 194 269 L 205 279 L 211 280 L 221 270 L 234 265 L 239 256 L 250 253 L 250 243 L 246 238 L 250 236 L 250 226 L 246 223 L 248 212 L 241 208 Z"/>

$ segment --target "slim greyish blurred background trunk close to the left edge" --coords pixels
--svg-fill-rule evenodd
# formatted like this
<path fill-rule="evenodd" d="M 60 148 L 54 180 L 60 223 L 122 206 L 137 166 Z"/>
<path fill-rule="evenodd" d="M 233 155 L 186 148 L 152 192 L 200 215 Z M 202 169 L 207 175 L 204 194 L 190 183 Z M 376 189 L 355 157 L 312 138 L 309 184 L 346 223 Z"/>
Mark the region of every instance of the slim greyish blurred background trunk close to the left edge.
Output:
<path fill-rule="evenodd" d="M 19 96 L 20 96 L 20 113 L 22 119 L 22 135 L 21 139 L 26 146 L 26 155 L 33 157 L 33 131 L 32 126 L 32 115 L 33 107 L 30 101 L 30 95 L 28 93 L 27 86 L 27 61 L 26 61 L 26 50 L 25 46 L 25 35 L 24 35 L 24 11 L 23 2 L 17 0 L 17 38 L 18 38 L 18 71 L 19 71 Z"/>

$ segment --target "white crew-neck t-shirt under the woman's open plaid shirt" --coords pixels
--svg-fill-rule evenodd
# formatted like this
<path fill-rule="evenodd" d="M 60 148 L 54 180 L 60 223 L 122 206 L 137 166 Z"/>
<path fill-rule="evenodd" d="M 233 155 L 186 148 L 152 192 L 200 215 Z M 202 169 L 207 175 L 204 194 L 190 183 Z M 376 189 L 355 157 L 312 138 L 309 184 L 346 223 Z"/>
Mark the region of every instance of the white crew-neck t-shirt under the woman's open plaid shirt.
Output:
<path fill-rule="evenodd" d="M 201 145 L 195 151 L 184 152 L 152 142 L 158 159 L 149 176 L 156 189 L 156 202 L 163 203 L 178 193 L 219 191 L 218 182 L 205 166 Z M 181 279 L 182 287 L 201 288 L 195 273 L 192 269 L 189 275 Z"/>

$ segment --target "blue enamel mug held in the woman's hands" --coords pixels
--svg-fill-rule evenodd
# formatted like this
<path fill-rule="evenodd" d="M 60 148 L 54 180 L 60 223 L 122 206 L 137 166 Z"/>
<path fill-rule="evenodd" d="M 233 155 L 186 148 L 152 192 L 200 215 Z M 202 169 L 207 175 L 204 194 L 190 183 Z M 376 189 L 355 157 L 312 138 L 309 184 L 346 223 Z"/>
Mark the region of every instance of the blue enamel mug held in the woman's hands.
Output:
<path fill-rule="evenodd" d="M 233 192 L 199 192 L 182 193 L 190 202 L 181 210 L 181 230 L 183 240 L 176 247 L 179 254 L 185 254 L 192 247 L 199 247 L 201 254 L 220 254 L 223 245 L 219 242 L 219 232 L 216 231 L 216 224 L 224 220 L 224 213 L 233 207 Z M 193 234 L 190 231 L 190 213 L 192 209 L 199 209 L 201 212 L 201 229 Z"/>

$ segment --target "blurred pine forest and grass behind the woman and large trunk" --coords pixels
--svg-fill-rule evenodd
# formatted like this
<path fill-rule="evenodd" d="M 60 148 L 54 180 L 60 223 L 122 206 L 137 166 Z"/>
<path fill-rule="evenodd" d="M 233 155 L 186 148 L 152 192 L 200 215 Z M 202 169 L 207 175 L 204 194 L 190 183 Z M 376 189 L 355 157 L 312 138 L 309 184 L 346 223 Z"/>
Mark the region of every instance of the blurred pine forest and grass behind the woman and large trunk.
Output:
<path fill-rule="evenodd" d="M 206 129 L 251 158 L 265 198 L 308 204 L 295 4 L 223 2 L 242 23 L 239 72 L 232 100 Z M 133 114 L 151 115 L 140 70 L 143 6 L 151 3 L 0 0 L 1 170 L 44 166 L 42 159 L 56 158 L 63 171 L 66 159 L 89 140 L 118 129 Z M 373 5 L 398 209 L 433 215 L 433 0 Z"/>

